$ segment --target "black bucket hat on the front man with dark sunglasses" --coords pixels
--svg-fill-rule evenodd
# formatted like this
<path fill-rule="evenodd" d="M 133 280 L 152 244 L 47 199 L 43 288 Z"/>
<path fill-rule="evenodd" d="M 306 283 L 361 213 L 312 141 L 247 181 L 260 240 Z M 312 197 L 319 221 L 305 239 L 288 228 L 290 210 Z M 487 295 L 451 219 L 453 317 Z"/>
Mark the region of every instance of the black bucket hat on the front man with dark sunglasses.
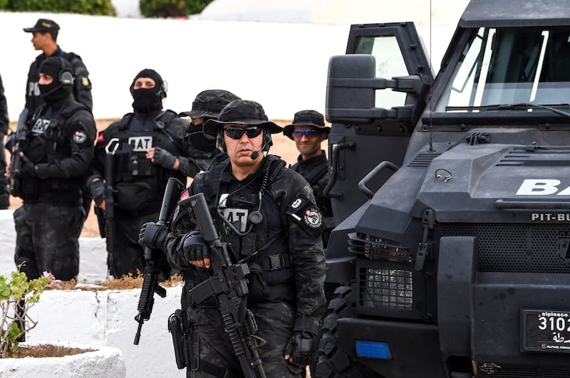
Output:
<path fill-rule="evenodd" d="M 204 123 L 204 134 L 215 137 L 219 128 L 225 123 L 237 125 L 259 125 L 270 134 L 282 132 L 283 127 L 268 120 L 261 104 L 252 100 L 234 100 L 219 112 L 217 120 L 211 119 Z"/>

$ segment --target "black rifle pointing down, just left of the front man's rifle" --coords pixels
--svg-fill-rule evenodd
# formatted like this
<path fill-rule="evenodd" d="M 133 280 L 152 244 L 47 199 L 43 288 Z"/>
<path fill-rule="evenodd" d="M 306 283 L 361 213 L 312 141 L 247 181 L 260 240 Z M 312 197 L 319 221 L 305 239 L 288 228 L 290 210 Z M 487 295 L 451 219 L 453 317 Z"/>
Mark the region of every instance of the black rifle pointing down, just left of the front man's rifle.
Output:
<path fill-rule="evenodd" d="M 184 184 L 174 177 L 170 177 L 166 184 L 165 195 L 162 197 L 162 206 L 160 206 L 160 214 L 158 215 L 157 225 L 167 226 L 170 219 L 170 214 L 176 205 L 180 192 L 184 190 Z M 138 300 L 138 314 L 135 320 L 138 322 L 138 329 L 135 335 L 135 345 L 138 345 L 140 340 L 140 329 L 145 320 L 150 319 L 152 313 L 152 306 L 155 304 L 155 293 L 161 298 L 165 298 L 166 289 L 158 285 L 158 275 L 160 269 L 156 264 L 155 253 L 164 253 L 160 250 L 155 250 L 145 247 L 145 271 L 142 273 L 142 289 L 140 290 L 140 298 Z"/>

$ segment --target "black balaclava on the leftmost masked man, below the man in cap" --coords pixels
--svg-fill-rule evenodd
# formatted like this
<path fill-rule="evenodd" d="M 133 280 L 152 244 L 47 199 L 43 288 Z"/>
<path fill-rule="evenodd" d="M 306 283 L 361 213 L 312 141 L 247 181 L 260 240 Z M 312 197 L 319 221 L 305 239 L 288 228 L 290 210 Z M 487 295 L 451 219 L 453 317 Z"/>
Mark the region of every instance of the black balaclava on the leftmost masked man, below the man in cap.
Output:
<path fill-rule="evenodd" d="M 50 75 L 53 81 L 50 84 L 38 84 L 41 98 L 48 105 L 57 105 L 71 95 L 73 85 L 61 83 L 59 76 L 62 70 L 73 73 L 71 63 L 59 56 L 51 56 L 40 65 L 39 73 Z"/>

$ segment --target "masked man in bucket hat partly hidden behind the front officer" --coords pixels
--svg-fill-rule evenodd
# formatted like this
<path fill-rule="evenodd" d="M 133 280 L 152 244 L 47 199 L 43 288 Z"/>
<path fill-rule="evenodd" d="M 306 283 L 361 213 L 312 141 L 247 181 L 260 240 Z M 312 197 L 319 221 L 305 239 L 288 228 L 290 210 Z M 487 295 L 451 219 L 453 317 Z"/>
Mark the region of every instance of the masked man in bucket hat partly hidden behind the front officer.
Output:
<path fill-rule="evenodd" d="M 194 177 L 205 171 L 215 157 L 216 140 L 204 135 L 204 122 L 217 119 L 219 112 L 233 100 L 240 100 L 237 95 L 222 89 L 203 90 L 192 102 L 192 110 L 181 112 L 179 117 L 190 117 L 190 126 L 185 132 L 187 157 L 180 157 L 180 172 Z"/>

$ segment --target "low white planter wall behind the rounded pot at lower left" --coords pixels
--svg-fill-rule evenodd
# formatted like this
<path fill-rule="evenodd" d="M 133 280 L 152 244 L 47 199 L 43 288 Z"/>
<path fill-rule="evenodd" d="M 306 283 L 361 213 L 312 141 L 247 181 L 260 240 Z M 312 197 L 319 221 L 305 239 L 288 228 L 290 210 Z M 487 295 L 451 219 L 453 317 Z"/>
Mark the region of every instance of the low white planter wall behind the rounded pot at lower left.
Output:
<path fill-rule="evenodd" d="M 171 313 L 180 308 L 182 288 L 167 288 L 165 298 L 155 295 L 150 320 L 142 325 L 139 345 L 134 345 L 138 322 L 135 290 L 51 290 L 41 294 L 30 309 L 38 325 L 28 332 L 28 342 L 74 342 L 118 348 L 125 360 L 126 377 L 186 377 L 176 367 L 172 337 L 167 330 Z M 90 377 L 108 377 L 93 371 Z"/>

